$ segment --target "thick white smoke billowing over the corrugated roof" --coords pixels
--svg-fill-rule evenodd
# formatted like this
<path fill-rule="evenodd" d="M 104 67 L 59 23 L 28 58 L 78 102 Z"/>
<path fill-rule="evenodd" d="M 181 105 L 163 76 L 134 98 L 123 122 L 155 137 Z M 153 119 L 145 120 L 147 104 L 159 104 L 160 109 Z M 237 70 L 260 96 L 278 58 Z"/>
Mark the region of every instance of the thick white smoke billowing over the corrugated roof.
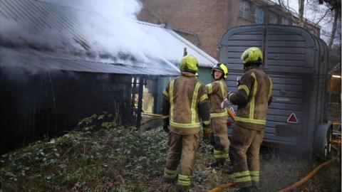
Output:
<path fill-rule="evenodd" d="M 140 1 L 40 1 L 48 6 L 55 4 L 53 6 L 57 5 L 58 9 L 71 11 L 72 14 L 66 16 L 73 17 L 71 19 L 78 23 L 74 23 L 75 26 L 72 28 L 61 25 L 42 29 L 35 26 L 36 23 L 28 23 L 25 19 L 12 21 L 0 17 L 0 36 L 3 43 L 16 46 L 28 44 L 36 49 L 51 50 L 63 55 L 77 55 L 82 59 L 106 63 L 139 63 L 143 66 L 144 63 L 150 65 L 161 60 L 162 63 L 168 63 L 169 67 L 175 68 L 175 65 L 167 60 L 167 54 L 170 52 L 165 52 L 165 45 L 162 44 L 165 41 L 161 43 L 160 38 L 155 38 L 158 34 L 138 23 L 137 14 L 142 9 Z M 58 16 L 52 14 L 41 19 L 48 23 L 58 23 L 52 22 L 56 17 Z M 179 49 L 182 50 L 182 47 Z M 182 56 L 179 52 L 177 54 L 179 57 Z"/>

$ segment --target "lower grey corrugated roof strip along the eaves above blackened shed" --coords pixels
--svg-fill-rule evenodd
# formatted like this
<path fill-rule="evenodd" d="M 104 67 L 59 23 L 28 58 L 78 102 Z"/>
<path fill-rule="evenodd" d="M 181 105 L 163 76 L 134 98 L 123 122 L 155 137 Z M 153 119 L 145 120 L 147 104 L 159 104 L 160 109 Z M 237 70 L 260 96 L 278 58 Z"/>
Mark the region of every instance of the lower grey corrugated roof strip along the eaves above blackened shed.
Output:
<path fill-rule="evenodd" d="M 171 68 L 148 68 L 148 63 L 140 66 L 130 66 L 120 63 L 103 63 L 91 60 L 72 60 L 70 58 L 56 57 L 52 54 L 41 53 L 29 49 L 11 49 L 0 47 L 0 66 L 18 66 L 34 72 L 34 68 L 46 70 L 69 70 L 91 73 L 115 73 L 123 75 L 178 75 L 177 70 Z M 28 65 L 29 63 L 29 65 Z M 160 61 L 160 65 L 166 65 Z"/>

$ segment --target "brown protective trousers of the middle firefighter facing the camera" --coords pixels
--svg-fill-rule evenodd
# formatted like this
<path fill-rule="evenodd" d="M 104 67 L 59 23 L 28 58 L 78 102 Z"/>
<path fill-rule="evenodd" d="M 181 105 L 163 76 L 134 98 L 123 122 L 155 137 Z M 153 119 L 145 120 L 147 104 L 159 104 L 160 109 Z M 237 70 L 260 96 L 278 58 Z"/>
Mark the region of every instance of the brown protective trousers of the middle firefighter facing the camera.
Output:
<path fill-rule="evenodd" d="M 219 161 L 227 161 L 229 159 L 229 139 L 227 134 L 227 119 L 226 118 L 212 118 L 211 124 L 212 132 L 214 133 L 210 142 L 214 146 L 214 158 Z"/>

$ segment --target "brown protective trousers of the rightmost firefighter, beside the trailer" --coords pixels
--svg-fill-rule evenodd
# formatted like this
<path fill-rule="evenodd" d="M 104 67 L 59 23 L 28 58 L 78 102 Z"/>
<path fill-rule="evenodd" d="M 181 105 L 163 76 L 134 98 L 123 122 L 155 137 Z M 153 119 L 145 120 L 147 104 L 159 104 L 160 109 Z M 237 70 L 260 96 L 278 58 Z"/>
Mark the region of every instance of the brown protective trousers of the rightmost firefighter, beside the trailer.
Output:
<path fill-rule="evenodd" d="M 232 133 L 234 178 L 241 187 L 258 186 L 260 178 L 259 149 L 264 131 L 247 129 L 237 124 Z"/>

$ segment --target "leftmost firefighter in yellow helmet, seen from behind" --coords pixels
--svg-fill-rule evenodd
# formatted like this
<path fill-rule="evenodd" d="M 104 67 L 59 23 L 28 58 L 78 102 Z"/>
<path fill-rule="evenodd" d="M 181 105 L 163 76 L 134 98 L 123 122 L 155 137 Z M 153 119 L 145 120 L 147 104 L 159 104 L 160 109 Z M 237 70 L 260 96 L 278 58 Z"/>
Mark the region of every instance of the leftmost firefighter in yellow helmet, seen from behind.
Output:
<path fill-rule="evenodd" d="M 205 86 L 196 78 L 197 70 L 197 59 L 186 55 L 180 62 L 181 75 L 168 82 L 162 93 L 162 115 L 167 117 L 162 127 L 168 132 L 170 146 L 164 178 L 168 182 L 177 180 L 177 191 L 189 190 L 199 129 L 201 125 L 210 125 L 208 96 Z"/>

